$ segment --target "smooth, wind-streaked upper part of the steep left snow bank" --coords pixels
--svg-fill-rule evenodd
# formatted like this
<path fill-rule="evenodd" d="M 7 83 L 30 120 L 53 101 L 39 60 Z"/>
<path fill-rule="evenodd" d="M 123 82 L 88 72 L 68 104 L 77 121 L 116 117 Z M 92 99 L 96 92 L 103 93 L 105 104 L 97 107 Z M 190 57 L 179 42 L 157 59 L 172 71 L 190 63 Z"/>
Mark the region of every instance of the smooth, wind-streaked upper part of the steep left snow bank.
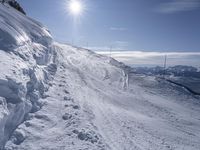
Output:
<path fill-rule="evenodd" d="M 0 4 L 0 49 L 13 50 L 14 47 L 36 43 L 49 44 L 49 31 L 12 7 Z"/>

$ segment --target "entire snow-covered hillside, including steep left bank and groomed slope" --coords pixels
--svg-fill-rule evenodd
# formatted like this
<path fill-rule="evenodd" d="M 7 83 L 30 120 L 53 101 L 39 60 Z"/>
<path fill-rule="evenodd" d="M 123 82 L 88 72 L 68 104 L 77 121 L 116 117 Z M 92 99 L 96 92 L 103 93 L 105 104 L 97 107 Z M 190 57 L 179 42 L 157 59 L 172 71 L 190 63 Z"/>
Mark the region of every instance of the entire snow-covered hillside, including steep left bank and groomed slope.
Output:
<path fill-rule="evenodd" d="M 0 5 L 0 150 L 197 150 L 200 101 L 59 44 Z"/>

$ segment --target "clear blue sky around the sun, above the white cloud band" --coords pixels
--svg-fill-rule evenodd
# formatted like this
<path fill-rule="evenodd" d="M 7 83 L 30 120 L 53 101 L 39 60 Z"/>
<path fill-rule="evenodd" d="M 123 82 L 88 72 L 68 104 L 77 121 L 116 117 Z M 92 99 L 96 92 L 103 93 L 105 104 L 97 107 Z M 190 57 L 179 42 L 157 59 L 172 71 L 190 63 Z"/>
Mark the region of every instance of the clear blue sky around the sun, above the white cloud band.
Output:
<path fill-rule="evenodd" d="M 68 0 L 18 0 L 57 41 L 95 50 L 200 52 L 200 0 L 81 0 L 74 21 Z"/>

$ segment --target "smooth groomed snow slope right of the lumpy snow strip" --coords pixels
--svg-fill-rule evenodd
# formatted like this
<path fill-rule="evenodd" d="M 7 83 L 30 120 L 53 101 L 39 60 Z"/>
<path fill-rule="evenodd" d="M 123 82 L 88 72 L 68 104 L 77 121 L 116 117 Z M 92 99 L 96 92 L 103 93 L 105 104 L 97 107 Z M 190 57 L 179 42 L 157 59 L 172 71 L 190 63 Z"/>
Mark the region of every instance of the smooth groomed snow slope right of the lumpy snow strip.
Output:
<path fill-rule="evenodd" d="M 76 53 L 78 55 L 80 52 Z M 70 60 L 73 58 L 73 62 L 76 63 L 70 61 L 70 66 L 81 75 L 80 82 L 84 81 L 81 87 L 79 82 L 73 83 L 72 94 L 81 100 L 82 105 L 87 104 L 92 109 L 93 123 L 111 149 L 155 150 L 200 147 L 199 98 L 167 82 L 136 75 L 130 77 L 129 90 L 124 91 L 121 88 L 123 83 L 113 82 L 122 80 L 107 78 L 105 81 L 103 77 L 97 79 L 98 74 L 91 76 L 92 72 L 88 71 L 93 68 L 87 65 L 88 62 L 96 66 L 101 63 L 101 68 L 105 67 L 103 70 L 109 70 L 109 76 L 113 77 L 115 75 L 111 73 L 113 70 L 108 68 L 110 64 L 102 63 L 105 60 L 109 62 L 109 58 L 101 57 L 99 62 L 98 58 L 93 59 L 91 56 L 88 59 L 83 54 L 77 56 L 76 53 L 64 55 Z M 68 63 L 68 59 L 63 60 Z M 89 69 L 80 70 L 84 66 Z M 73 78 L 68 82 L 71 81 Z"/>

